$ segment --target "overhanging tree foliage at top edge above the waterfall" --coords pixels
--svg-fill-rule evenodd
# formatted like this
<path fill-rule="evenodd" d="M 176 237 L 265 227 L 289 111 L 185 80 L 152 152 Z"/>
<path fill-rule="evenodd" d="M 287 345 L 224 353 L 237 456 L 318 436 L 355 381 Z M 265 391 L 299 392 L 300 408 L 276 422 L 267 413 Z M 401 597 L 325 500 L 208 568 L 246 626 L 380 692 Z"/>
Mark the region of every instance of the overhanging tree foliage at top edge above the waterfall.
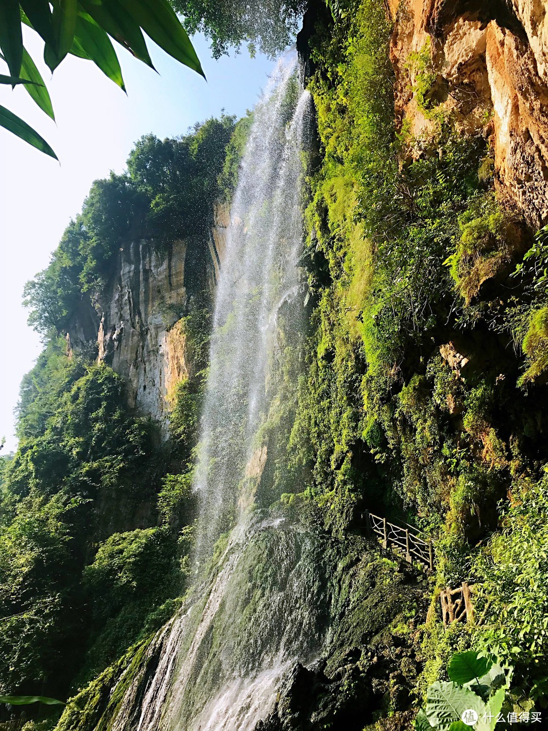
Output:
<path fill-rule="evenodd" d="M 292 41 L 306 7 L 305 0 L 170 1 L 190 34 L 201 31 L 211 39 L 215 58 L 242 43 L 252 54 L 258 48 L 275 56 Z"/>

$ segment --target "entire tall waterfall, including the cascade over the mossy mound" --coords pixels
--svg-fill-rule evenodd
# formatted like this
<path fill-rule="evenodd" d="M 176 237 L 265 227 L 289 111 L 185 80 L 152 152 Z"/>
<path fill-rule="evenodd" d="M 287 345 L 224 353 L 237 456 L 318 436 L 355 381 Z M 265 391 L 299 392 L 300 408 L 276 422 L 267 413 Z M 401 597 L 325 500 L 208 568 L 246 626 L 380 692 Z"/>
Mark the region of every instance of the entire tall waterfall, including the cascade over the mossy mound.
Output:
<path fill-rule="evenodd" d="M 156 639 L 151 677 L 126 691 L 113 731 L 251 731 L 286 670 L 319 651 L 318 542 L 256 499 L 278 317 L 302 317 L 301 151 L 311 96 L 297 70 L 296 54 L 281 58 L 254 109 L 231 208 L 194 479 L 201 573 Z"/>

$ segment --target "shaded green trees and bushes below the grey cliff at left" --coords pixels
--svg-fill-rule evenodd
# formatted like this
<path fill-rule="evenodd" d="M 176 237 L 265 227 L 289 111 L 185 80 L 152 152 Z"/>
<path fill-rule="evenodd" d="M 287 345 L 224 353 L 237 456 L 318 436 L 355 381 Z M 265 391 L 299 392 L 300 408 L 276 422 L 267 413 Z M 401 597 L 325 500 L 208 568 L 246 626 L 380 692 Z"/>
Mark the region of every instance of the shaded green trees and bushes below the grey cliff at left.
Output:
<path fill-rule="evenodd" d="M 24 379 L 20 446 L 1 462 L 4 693 L 64 698 L 179 606 L 194 519 L 186 464 L 207 357 L 207 320 L 186 320 L 195 395 L 190 406 L 176 399 L 163 446 L 129 412 L 121 376 L 67 357 L 63 338 Z M 177 466 L 182 474 L 170 474 Z"/>

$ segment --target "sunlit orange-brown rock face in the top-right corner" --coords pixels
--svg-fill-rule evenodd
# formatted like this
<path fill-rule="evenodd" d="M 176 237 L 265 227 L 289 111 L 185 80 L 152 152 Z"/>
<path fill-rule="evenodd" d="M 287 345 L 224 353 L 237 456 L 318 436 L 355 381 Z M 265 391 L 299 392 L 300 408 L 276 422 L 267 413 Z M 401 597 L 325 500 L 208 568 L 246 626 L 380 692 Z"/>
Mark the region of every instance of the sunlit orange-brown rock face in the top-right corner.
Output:
<path fill-rule="evenodd" d="M 389 0 L 389 7 L 400 128 L 406 120 L 416 139 L 429 138 L 442 114 L 457 133 L 482 133 L 498 188 L 533 227 L 545 224 L 548 2 Z"/>

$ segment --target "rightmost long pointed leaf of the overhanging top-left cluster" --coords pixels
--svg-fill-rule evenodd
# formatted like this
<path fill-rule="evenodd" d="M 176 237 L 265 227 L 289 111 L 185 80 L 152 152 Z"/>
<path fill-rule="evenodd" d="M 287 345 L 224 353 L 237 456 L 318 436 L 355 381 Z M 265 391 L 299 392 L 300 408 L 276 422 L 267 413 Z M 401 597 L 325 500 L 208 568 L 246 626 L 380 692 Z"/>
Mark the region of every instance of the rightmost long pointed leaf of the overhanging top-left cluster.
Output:
<path fill-rule="evenodd" d="M 120 0 L 120 4 L 160 48 L 205 78 L 194 46 L 167 0 Z"/>

